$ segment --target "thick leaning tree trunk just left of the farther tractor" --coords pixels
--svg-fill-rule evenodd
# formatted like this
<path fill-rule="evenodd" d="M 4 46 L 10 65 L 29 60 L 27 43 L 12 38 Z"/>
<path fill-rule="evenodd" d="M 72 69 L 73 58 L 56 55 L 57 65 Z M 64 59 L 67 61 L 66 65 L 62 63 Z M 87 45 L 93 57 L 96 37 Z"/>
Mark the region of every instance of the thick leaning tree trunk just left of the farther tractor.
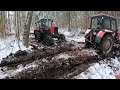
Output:
<path fill-rule="evenodd" d="M 30 32 L 30 26 L 32 21 L 32 15 L 33 15 L 33 11 L 28 11 L 26 21 L 25 21 L 25 26 L 24 26 L 23 41 L 26 47 L 29 46 L 28 41 L 29 41 L 29 32 Z"/>

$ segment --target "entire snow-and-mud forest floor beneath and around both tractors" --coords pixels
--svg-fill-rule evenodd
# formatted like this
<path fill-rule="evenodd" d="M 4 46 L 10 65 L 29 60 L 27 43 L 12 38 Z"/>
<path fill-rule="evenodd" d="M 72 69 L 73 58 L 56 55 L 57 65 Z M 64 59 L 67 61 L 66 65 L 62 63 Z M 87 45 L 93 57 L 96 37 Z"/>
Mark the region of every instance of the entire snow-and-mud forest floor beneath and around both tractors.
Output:
<path fill-rule="evenodd" d="M 115 79 L 120 74 L 120 57 L 100 58 L 93 49 L 82 49 L 84 34 L 61 33 L 67 41 L 50 47 L 33 37 L 30 43 L 37 48 L 25 48 L 14 35 L 0 38 L 0 78 Z"/>

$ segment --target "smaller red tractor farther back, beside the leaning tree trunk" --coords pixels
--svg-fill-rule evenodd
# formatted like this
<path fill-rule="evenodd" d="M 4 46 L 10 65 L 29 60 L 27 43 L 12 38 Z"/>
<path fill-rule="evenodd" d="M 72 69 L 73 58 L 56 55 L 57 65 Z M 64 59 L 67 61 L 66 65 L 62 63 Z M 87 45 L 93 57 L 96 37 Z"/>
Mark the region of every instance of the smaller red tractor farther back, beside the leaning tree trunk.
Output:
<path fill-rule="evenodd" d="M 54 38 L 65 40 L 65 36 L 58 33 L 58 27 L 53 26 L 52 19 L 40 19 L 35 22 L 34 36 L 38 42 L 49 46 L 54 44 Z"/>

